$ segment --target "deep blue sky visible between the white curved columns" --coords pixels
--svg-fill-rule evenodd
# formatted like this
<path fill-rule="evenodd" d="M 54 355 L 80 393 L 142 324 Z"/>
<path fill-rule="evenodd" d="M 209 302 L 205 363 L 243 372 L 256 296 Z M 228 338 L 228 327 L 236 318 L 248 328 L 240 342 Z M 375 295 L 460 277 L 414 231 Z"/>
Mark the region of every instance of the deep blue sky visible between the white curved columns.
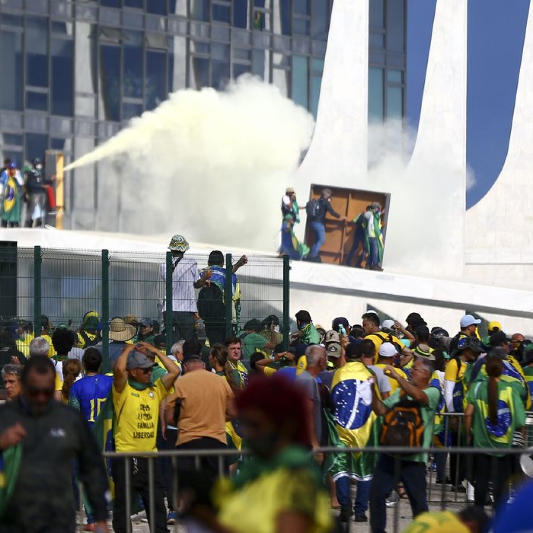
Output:
<path fill-rule="evenodd" d="M 446 1 L 446 0 L 442 0 Z M 418 125 L 437 0 L 408 0 L 406 114 Z M 513 116 L 529 0 L 469 0 L 466 159 L 477 203 L 505 161 Z"/>

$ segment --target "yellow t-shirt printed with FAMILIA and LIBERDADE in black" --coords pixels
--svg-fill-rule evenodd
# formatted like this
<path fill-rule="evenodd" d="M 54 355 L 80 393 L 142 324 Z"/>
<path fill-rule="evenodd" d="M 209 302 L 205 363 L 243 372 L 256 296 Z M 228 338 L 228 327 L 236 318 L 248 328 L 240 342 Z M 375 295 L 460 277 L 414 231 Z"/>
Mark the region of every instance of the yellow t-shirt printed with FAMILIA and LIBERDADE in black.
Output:
<path fill-rule="evenodd" d="M 169 393 L 157 379 L 143 391 L 126 383 L 122 392 L 113 391 L 113 406 L 117 417 L 115 447 L 117 451 L 157 451 L 156 434 L 159 404 Z"/>

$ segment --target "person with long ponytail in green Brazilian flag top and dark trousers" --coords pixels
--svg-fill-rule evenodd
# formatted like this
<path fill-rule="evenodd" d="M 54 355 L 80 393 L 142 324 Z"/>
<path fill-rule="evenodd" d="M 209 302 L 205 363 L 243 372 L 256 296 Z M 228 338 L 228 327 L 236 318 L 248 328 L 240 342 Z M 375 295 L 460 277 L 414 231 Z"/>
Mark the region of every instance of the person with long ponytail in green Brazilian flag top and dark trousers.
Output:
<path fill-rule="evenodd" d="M 513 445 L 513 433 L 523 427 L 526 411 L 515 384 L 501 379 L 502 358 L 489 356 L 485 367 L 488 381 L 474 383 L 466 396 L 466 439 L 474 448 L 494 448 L 494 453 L 474 455 L 474 503 L 484 505 L 492 481 L 497 508 L 507 501 L 507 482 L 513 472 L 513 456 L 502 451 Z"/>

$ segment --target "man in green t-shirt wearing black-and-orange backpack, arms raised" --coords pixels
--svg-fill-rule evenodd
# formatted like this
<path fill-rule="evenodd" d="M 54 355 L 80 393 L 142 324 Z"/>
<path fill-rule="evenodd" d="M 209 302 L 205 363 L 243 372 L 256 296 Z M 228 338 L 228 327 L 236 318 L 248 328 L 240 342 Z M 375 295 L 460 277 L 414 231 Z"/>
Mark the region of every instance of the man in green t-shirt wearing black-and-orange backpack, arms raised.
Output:
<path fill-rule="evenodd" d="M 372 409 L 376 415 L 383 417 L 379 439 L 381 446 L 431 447 L 433 420 L 441 397 L 439 389 L 430 385 L 433 370 L 431 361 L 418 358 L 408 382 L 398 374 L 397 369 L 385 367 L 385 373 L 398 382 L 399 388 L 381 401 L 372 387 Z M 412 421 L 408 432 L 402 431 L 401 421 L 405 417 Z M 373 533 L 385 531 L 385 498 L 400 480 L 409 497 L 413 518 L 428 510 L 426 463 L 425 453 L 401 456 L 379 454 L 370 489 L 370 530 Z"/>

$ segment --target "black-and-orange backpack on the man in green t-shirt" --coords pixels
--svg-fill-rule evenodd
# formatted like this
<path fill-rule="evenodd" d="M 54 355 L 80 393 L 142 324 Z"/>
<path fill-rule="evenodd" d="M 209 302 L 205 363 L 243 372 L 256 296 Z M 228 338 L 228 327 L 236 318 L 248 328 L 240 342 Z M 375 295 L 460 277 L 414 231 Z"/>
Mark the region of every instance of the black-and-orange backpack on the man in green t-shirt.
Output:
<path fill-rule="evenodd" d="M 402 395 L 400 401 L 383 416 L 379 442 L 383 446 L 421 447 L 424 421 L 420 404 Z"/>

